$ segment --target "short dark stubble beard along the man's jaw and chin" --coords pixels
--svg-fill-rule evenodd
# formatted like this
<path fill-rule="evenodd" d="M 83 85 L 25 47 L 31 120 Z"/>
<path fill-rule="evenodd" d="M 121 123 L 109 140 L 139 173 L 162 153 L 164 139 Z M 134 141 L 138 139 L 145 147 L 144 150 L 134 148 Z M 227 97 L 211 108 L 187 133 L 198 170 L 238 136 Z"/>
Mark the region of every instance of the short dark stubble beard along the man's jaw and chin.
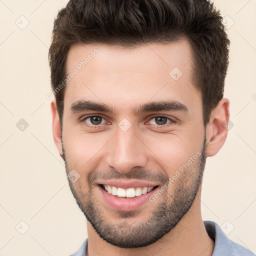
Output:
<path fill-rule="evenodd" d="M 147 211 L 143 212 L 143 208 L 133 211 L 116 210 L 115 215 L 117 214 L 118 218 L 112 217 L 113 220 L 109 220 L 105 214 L 107 209 L 102 206 L 93 194 L 93 191 L 91 191 L 91 178 L 87 180 L 89 187 L 87 189 L 85 189 L 83 184 L 75 184 L 68 180 L 69 187 L 77 205 L 102 239 L 122 248 L 147 246 L 159 240 L 173 229 L 191 207 L 202 182 L 206 161 L 205 145 L 206 137 L 204 132 L 201 154 L 197 158 L 196 163 L 193 166 L 189 166 L 171 184 L 171 186 L 175 186 L 171 194 L 168 193 L 169 189 L 166 189 L 157 200 L 148 202 L 155 204 L 155 207 L 151 211 L 150 216 L 143 222 L 135 222 L 137 214 L 147 213 Z M 66 162 L 63 143 L 62 150 L 62 158 L 64 159 L 66 173 L 68 174 L 71 168 L 69 168 L 68 162 Z M 94 171 L 96 172 L 96 170 Z M 139 170 L 134 173 L 139 173 Z M 159 179 L 162 180 L 162 174 L 160 176 L 161 178 Z M 168 177 L 166 178 L 168 179 Z M 107 212 L 107 215 L 109 214 L 111 213 Z"/>

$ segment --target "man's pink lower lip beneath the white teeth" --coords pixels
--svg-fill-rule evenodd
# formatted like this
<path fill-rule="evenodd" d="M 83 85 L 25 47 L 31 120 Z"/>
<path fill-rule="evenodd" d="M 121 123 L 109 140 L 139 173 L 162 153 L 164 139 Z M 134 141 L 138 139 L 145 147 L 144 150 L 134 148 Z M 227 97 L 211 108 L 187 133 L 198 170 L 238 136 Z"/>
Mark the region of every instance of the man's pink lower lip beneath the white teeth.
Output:
<path fill-rule="evenodd" d="M 135 210 L 149 201 L 149 197 L 155 192 L 155 187 L 150 192 L 146 194 L 142 194 L 140 196 L 135 196 L 131 198 L 127 197 L 118 197 L 116 195 L 109 194 L 103 187 L 99 185 L 102 196 L 106 200 L 106 202 L 114 209 L 117 210 Z"/>

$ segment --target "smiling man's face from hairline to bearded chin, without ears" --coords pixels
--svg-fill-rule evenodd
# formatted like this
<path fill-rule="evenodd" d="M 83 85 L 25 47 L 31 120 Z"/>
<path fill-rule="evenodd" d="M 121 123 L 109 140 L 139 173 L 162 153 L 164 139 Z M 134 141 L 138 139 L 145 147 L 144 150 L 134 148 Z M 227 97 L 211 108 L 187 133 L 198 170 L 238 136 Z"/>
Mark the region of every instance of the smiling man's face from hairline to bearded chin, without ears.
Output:
<path fill-rule="evenodd" d="M 69 186 L 113 245 L 157 241 L 200 188 L 206 140 L 191 55 L 186 40 L 129 49 L 79 45 L 68 53 L 67 74 L 75 73 L 62 122 L 66 172 L 75 177 Z"/>

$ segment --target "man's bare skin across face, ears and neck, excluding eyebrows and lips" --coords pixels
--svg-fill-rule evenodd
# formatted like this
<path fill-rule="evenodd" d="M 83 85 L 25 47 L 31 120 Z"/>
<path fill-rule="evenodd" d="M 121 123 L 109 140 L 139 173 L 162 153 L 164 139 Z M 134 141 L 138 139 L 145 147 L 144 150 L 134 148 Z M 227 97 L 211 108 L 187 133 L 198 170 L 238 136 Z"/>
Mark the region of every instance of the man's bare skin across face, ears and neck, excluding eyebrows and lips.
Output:
<path fill-rule="evenodd" d="M 102 44 L 74 45 L 68 53 L 67 73 L 95 48 L 99 53 L 66 85 L 62 140 L 55 99 L 51 102 L 54 142 L 63 155 L 66 172 L 75 169 L 80 175 L 75 183 L 69 181 L 69 185 L 79 207 L 92 222 L 87 221 L 88 255 L 212 255 L 214 241 L 207 235 L 200 210 L 201 176 L 205 158 L 215 155 L 225 142 L 227 129 L 223 128 L 223 122 L 229 119 L 228 99 L 219 101 L 204 128 L 201 93 L 193 84 L 192 51 L 185 39 L 131 49 Z M 169 75 L 175 66 L 183 73 L 176 81 Z M 71 112 L 70 106 L 81 99 L 103 102 L 115 112 Z M 139 104 L 164 99 L 183 103 L 188 112 L 132 113 L 132 108 Z M 100 128 L 86 126 L 93 126 L 90 118 L 81 121 L 88 114 L 103 117 Z M 166 119 L 166 124 L 159 125 L 153 117 L 161 114 L 176 122 L 168 125 L 170 120 Z M 118 126 L 123 118 L 131 124 L 126 131 Z M 96 184 L 102 177 L 123 180 L 131 177 L 153 180 L 154 177 L 162 186 L 197 151 L 200 157 L 154 202 L 146 202 L 139 210 L 113 209 Z M 174 198 L 183 203 L 182 207 L 175 208 Z M 175 218 L 172 209 L 183 216 Z M 166 223 L 160 218 L 164 212 L 169 220 Z M 164 225 L 159 230 L 150 229 L 148 223 L 153 221 L 155 227 Z M 146 234 L 143 236 L 145 232 L 142 232 L 138 236 L 138 231 L 134 232 L 136 226 L 145 228 Z M 110 229 L 105 230 L 106 227 Z M 164 228 L 165 233 L 160 234 Z M 146 241 L 157 232 L 156 241 Z M 122 238 L 133 246 L 125 248 L 121 243 L 116 246 Z"/>

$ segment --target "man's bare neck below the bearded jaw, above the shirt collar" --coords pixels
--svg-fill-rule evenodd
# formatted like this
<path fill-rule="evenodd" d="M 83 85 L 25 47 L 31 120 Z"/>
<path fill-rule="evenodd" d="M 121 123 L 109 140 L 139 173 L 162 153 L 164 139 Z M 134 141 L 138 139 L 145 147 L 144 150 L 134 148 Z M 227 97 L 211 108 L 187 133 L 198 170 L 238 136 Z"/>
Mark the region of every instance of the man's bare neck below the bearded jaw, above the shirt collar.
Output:
<path fill-rule="evenodd" d="M 186 215 L 169 233 L 145 247 L 120 248 L 113 246 L 100 238 L 88 221 L 87 231 L 88 254 L 86 256 L 102 255 L 103 252 L 104 256 L 144 256 L 145 254 L 211 256 L 214 249 L 214 241 L 208 236 L 201 217 L 199 194 Z"/>

